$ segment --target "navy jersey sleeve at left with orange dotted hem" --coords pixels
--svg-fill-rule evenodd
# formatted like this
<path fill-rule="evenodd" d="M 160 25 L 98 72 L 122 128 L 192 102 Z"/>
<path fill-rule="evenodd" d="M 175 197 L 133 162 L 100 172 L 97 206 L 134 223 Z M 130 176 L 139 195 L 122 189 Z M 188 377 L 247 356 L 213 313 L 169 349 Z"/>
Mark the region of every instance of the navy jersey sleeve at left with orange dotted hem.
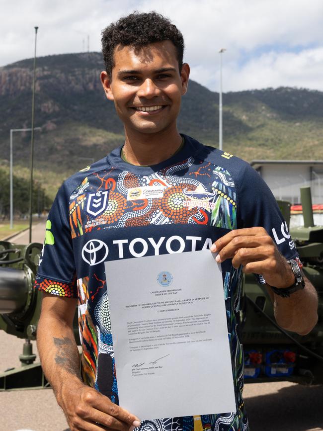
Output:
<path fill-rule="evenodd" d="M 65 184 L 58 191 L 48 215 L 34 287 L 57 296 L 78 297 L 69 224 L 69 196 Z"/>

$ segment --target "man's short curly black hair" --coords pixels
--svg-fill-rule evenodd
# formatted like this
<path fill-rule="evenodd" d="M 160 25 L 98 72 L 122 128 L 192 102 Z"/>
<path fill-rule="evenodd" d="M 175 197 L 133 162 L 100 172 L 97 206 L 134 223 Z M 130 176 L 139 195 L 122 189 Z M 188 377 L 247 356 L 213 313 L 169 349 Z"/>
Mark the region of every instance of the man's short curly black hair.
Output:
<path fill-rule="evenodd" d="M 170 40 L 177 51 L 178 67 L 183 65 L 184 39 L 170 19 L 155 11 L 149 13 L 133 12 L 110 24 L 102 31 L 102 53 L 105 70 L 111 76 L 113 52 L 116 46 L 141 47 L 154 42 Z"/>

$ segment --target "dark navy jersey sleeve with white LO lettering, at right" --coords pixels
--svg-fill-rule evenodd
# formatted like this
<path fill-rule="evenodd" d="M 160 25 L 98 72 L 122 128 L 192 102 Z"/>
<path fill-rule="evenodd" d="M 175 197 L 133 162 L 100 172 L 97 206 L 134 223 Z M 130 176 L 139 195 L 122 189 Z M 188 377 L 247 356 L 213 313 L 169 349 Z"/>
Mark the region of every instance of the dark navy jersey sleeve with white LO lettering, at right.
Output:
<path fill-rule="evenodd" d="M 238 227 L 261 226 L 265 228 L 280 253 L 286 259 L 296 259 L 300 263 L 287 223 L 281 214 L 277 201 L 259 173 L 246 165 L 239 185 Z M 257 278 L 260 282 L 264 282 L 261 276 Z"/>

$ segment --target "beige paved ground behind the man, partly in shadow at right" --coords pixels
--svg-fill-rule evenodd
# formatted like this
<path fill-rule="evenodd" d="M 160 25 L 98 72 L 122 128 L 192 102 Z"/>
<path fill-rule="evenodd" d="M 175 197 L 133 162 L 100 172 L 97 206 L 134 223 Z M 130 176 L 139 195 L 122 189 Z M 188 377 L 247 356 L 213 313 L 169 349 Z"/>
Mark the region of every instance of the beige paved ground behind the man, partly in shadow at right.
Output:
<path fill-rule="evenodd" d="M 42 221 L 34 226 L 32 240 L 42 243 L 44 232 Z M 28 231 L 11 241 L 27 244 Z M 19 365 L 22 345 L 22 340 L 0 331 L 0 372 Z M 247 384 L 243 396 L 251 431 L 323 430 L 323 386 L 305 387 L 287 382 Z M 66 429 L 64 414 L 51 389 L 0 393 L 1 431 Z"/>

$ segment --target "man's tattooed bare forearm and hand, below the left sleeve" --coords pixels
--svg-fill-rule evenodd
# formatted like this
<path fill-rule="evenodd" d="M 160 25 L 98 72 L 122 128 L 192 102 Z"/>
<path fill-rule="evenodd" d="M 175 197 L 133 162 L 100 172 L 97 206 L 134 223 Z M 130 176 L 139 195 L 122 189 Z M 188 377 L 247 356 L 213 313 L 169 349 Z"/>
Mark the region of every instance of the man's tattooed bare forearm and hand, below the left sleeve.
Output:
<path fill-rule="evenodd" d="M 50 382 L 72 431 L 122 430 L 140 420 L 81 381 L 80 353 L 74 338 L 77 300 L 43 294 L 37 327 L 37 347 Z"/>

